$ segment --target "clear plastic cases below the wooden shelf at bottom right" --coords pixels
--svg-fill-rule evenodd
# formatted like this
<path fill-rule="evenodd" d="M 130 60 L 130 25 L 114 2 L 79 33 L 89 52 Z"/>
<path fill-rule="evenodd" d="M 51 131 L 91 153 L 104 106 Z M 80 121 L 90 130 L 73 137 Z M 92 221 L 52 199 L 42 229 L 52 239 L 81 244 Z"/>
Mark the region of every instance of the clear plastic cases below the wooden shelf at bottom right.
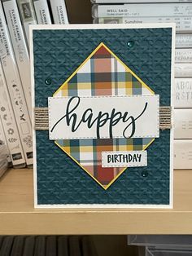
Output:
<path fill-rule="evenodd" d="M 139 256 L 192 255 L 192 236 L 131 235 L 128 245 L 137 245 Z"/>

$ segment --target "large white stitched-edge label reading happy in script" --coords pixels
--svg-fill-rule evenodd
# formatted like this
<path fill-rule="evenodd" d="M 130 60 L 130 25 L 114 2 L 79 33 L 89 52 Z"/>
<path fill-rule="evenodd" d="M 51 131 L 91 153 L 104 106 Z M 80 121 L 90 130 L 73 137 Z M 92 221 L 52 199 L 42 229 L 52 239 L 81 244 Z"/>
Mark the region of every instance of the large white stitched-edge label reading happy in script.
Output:
<path fill-rule="evenodd" d="M 50 139 L 159 137 L 159 95 L 49 98 Z"/>

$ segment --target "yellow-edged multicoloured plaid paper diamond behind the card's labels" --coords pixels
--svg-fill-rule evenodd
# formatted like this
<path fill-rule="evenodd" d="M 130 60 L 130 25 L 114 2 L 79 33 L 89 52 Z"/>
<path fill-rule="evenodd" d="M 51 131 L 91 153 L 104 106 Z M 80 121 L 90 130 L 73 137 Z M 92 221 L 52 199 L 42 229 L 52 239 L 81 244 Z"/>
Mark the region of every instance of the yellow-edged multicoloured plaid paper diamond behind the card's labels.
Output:
<path fill-rule="evenodd" d="M 154 95 L 103 42 L 54 94 L 62 96 Z M 103 168 L 103 151 L 145 150 L 154 139 L 62 139 L 55 143 L 104 189 L 127 168 Z"/>

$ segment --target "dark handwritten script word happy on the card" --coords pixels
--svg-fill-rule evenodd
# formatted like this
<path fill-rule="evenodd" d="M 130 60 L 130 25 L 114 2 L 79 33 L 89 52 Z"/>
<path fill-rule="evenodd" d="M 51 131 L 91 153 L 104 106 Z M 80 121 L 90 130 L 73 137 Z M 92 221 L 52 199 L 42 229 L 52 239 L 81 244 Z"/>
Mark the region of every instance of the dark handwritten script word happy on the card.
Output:
<path fill-rule="evenodd" d="M 101 129 L 106 128 L 108 138 L 112 139 L 115 126 L 121 123 L 124 124 L 122 136 L 129 139 L 135 134 L 136 121 L 146 112 L 147 102 L 142 105 L 142 110 L 137 113 L 137 116 L 133 116 L 129 111 L 117 111 L 116 108 L 111 108 L 109 113 L 101 110 L 98 111 L 98 108 L 102 108 L 102 106 L 97 106 L 97 111 L 95 108 L 82 108 L 81 98 L 74 96 L 68 99 L 63 116 L 58 121 L 55 121 L 50 132 L 53 132 L 61 121 L 65 121 L 66 125 L 72 130 L 72 133 L 81 130 L 81 126 L 86 126 L 88 129 L 95 129 L 97 139 L 100 139 Z M 81 111 L 81 109 L 84 110 Z"/>

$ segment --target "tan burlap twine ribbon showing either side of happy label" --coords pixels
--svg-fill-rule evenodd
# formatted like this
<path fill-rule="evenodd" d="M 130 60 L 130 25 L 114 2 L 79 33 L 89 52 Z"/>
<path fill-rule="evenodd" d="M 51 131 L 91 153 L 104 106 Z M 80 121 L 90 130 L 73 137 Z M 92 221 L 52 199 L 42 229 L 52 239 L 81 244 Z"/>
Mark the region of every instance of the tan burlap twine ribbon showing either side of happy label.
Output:
<path fill-rule="evenodd" d="M 159 108 L 159 128 L 161 130 L 172 128 L 172 108 Z M 48 108 L 35 108 L 35 130 L 49 130 Z"/>

